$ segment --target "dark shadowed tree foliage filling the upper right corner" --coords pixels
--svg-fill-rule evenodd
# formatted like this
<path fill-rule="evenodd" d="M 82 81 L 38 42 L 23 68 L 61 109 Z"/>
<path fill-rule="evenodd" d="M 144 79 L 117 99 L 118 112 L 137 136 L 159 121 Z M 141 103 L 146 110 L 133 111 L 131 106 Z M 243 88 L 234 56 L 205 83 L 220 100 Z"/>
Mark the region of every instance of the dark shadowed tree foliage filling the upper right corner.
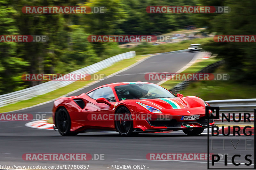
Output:
<path fill-rule="evenodd" d="M 214 0 L 203 1 L 203 5 L 229 6 L 230 13 L 213 14 L 201 17 L 200 22 L 209 26 L 216 35 L 255 35 L 256 17 L 254 0 Z M 204 49 L 218 54 L 226 62 L 230 79 L 239 83 L 255 84 L 256 46 L 252 42 L 210 42 Z"/>

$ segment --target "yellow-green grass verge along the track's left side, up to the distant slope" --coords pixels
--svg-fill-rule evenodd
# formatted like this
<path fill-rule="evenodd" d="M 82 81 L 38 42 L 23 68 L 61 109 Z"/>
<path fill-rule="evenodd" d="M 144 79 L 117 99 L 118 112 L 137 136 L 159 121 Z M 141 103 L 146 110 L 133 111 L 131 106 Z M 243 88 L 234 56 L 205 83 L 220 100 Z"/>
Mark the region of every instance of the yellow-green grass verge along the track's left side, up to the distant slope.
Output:
<path fill-rule="evenodd" d="M 110 75 L 113 74 L 119 70 L 122 70 L 134 63 L 136 63 L 137 61 L 148 57 L 148 56 L 142 56 L 144 54 L 154 54 L 154 53 L 160 53 L 160 52 L 168 52 L 168 51 L 176 51 L 176 50 L 181 50 L 181 49 L 187 49 L 188 46 L 191 43 L 204 43 L 206 41 L 209 41 L 211 38 L 204 38 L 204 39 L 194 39 L 194 40 L 185 40 L 185 41 L 181 41 L 178 43 L 166 43 L 166 44 L 161 44 L 158 46 L 153 46 L 153 45 L 141 45 L 135 48 L 129 48 L 129 51 L 136 51 L 136 56 L 131 58 L 131 59 L 126 59 L 126 60 L 122 60 L 120 62 L 117 62 L 115 64 L 113 64 L 112 66 L 99 71 L 98 73 L 103 73 L 105 75 Z M 72 92 L 78 88 L 81 88 L 85 85 L 88 85 L 89 83 L 91 83 L 92 81 L 76 81 L 70 85 L 67 85 L 65 87 L 61 87 L 57 90 L 54 90 L 52 92 L 40 95 L 40 96 L 36 96 L 34 98 L 31 98 L 29 100 L 23 100 L 23 101 L 19 101 L 17 103 L 14 104 L 10 104 L 4 107 L 0 107 L 0 113 L 3 112 L 9 112 L 9 111 L 13 111 L 13 110 L 18 110 L 18 109 L 22 109 L 25 107 L 30 107 L 30 106 L 34 106 L 36 104 L 40 104 L 49 100 L 53 100 L 56 98 L 59 98 L 60 96 L 63 96 L 65 94 L 67 94 L 68 92 Z"/>

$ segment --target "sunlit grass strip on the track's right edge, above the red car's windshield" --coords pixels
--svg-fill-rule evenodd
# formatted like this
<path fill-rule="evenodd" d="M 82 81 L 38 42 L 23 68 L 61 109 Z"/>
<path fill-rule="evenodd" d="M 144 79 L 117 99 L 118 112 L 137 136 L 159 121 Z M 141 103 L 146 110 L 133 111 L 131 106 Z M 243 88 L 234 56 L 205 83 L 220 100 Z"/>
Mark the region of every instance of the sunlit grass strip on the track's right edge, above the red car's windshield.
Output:
<path fill-rule="evenodd" d="M 217 61 L 219 61 L 219 60 L 217 60 L 215 58 L 198 59 L 196 61 L 196 63 L 194 63 L 193 65 L 188 67 L 186 70 L 182 71 L 181 73 L 196 73 L 196 72 L 202 70 L 207 65 L 210 65 L 210 64 L 215 63 Z M 168 81 L 164 82 L 161 86 L 163 86 L 164 88 L 169 90 L 169 89 L 173 88 L 176 84 L 178 84 L 180 82 L 182 82 L 182 81 L 168 80 Z"/>

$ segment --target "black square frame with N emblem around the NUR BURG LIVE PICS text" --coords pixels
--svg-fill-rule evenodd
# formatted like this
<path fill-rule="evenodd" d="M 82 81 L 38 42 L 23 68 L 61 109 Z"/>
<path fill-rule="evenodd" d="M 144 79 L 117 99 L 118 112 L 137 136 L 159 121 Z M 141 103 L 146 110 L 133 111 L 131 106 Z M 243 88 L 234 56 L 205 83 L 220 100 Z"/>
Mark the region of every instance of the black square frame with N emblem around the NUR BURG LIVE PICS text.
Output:
<path fill-rule="evenodd" d="M 212 113 L 209 115 L 209 109 L 212 110 L 212 112 L 215 113 L 215 115 L 212 115 Z M 221 110 L 241 110 L 239 108 L 221 108 Z M 207 157 L 207 169 L 256 169 L 256 108 L 243 108 L 243 110 L 253 110 L 254 111 L 254 167 L 253 168 L 210 168 L 209 166 L 209 156 Z M 205 106 L 205 118 L 208 119 L 220 119 L 220 107 L 213 107 L 213 106 Z M 208 129 L 207 129 L 207 154 L 209 155 L 209 123 L 208 123 Z"/>

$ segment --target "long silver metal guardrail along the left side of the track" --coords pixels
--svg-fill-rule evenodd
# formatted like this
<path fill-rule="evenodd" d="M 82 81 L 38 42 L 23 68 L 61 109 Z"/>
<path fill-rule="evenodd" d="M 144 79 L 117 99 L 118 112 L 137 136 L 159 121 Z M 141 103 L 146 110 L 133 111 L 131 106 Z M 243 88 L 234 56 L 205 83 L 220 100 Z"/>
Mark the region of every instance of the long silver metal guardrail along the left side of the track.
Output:
<path fill-rule="evenodd" d="M 105 60 L 102 60 L 98 63 L 94 63 L 92 65 L 89 65 L 87 67 L 84 67 L 82 69 L 76 70 L 71 72 L 70 74 L 93 74 L 96 73 L 102 69 L 105 69 L 109 67 L 110 65 L 119 62 L 124 59 L 129 59 L 135 56 L 135 51 L 130 51 L 127 53 L 115 55 L 113 57 L 109 57 Z M 5 105 L 15 103 L 21 100 L 28 100 L 35 96 L 42 95 L 48 92 L 52 92 L 56 89 L 59 89 L 61 87 L 64 87 L 66 85 L 69 85 L 75 81 L 48 81 L 39 85 L 35 85 L 26 89 L 22 89 L 19 91 L 7 93 L 0 95 L 0 107 L 3 107 Z"/>

